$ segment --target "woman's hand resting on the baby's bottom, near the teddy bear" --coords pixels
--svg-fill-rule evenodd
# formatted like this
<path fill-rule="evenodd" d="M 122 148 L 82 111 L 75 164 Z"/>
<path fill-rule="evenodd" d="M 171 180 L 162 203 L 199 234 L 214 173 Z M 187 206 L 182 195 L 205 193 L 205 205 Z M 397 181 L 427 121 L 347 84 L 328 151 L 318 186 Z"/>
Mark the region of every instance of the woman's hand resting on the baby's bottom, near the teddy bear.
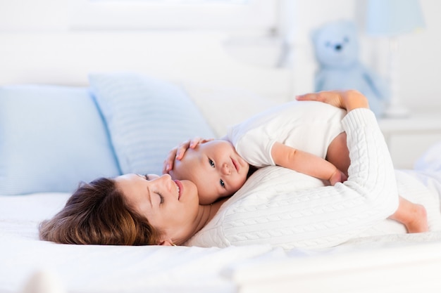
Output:
<path fill-rule="evenodd" d="M 296 97 L 297 100 L 317 100 L 337 108 L 346 109 L 347 112 L 356 108 L 369 108 L 368 99 L 359 91 L 319 91 L 306 93 Z"/>

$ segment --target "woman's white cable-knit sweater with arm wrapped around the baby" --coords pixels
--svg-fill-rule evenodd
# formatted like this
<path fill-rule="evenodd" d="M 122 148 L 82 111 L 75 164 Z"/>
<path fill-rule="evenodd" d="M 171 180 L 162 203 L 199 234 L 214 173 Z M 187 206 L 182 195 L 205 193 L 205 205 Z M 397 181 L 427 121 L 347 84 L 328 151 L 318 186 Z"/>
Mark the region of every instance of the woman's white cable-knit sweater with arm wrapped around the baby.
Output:
<path fill-rule="evenodd" d="M 339 245 L 384 221 L 398 207 L 397 181 L 375 116 L 356 109 L 342 124 L 352 162 L 348 181 L 325 186 L 289 169 L 264 167 L 186 245 L 316 249 Z"/>

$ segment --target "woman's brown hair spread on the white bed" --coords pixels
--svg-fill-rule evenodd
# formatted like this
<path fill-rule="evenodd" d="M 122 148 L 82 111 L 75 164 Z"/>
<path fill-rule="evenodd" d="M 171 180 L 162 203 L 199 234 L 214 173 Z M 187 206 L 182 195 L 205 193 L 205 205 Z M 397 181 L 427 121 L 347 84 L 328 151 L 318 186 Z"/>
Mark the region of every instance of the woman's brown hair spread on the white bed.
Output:
<path fill-rule="evenodd" d="M 41 240 L 78 245 L 156 245 L 159 231 L 132 209 L 110 178 L 82 183 L 52 219 Z"/>

